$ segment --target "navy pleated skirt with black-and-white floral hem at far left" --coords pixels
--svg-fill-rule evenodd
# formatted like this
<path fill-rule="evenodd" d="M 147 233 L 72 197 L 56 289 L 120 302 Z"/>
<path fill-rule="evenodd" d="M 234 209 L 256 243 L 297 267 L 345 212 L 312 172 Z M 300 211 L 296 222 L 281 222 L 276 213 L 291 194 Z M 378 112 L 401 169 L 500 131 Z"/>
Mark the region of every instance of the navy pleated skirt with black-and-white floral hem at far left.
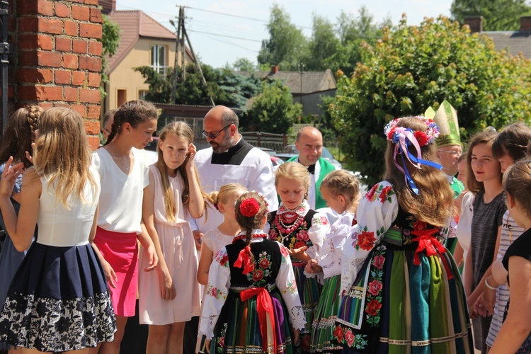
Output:
<path fill-rule="evenodd" d="M 0 341 L 63 352 L 114 340 L 113 305 L 92 246 L 33 243 L 9 287 Z"/>

